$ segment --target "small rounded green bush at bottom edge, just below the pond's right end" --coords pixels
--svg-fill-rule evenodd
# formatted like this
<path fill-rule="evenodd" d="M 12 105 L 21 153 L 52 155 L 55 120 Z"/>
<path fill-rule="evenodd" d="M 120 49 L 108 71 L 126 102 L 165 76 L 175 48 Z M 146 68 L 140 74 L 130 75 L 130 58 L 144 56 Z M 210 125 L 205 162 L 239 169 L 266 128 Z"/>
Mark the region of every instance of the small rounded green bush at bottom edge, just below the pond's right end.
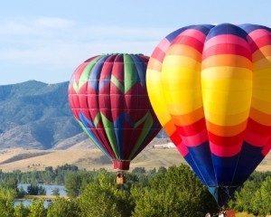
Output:
<path fill-rule="evenodd" d="M 47 217 L 79 217 L 79 203 L 77 200 L 58 198 L 48 208 Z"/>

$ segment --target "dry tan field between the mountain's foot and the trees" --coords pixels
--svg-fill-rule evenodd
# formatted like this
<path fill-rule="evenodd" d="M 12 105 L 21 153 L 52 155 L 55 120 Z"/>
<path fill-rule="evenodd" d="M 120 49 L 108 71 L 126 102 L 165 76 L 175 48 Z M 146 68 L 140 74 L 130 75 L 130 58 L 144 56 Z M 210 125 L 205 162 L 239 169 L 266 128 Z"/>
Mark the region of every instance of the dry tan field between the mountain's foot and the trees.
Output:
<path fill-rule="evenodd" d="M 152 148 L 146 147 L 131 164 L 131 168 L 144 166 L 152 169 L 159 166 L 180 165 L 184 160 L 175 148 Z M 112 169 L 110 160 L 107 159 L 97 148 L 86 146 L 71 147 L 66 150 L 25 150 L 22 148 L 6 149 L 0 152 L 0 169 L 3 171 L 13 170 L 43 170 L 46 166 L 73 164 L 87 170 L 106 168 Z M 271 171 L 271 155 L 261 165 L 259 171 Z"/>

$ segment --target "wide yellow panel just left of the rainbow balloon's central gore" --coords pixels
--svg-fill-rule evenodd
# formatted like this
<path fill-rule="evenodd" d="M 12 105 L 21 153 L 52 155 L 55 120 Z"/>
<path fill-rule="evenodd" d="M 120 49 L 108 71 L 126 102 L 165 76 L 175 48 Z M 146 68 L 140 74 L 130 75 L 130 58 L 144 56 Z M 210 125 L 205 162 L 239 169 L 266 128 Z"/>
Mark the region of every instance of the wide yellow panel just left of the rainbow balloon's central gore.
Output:
<path fill-rule="evenodd" d="M 163 90 L 172 115 L 185 115 L 202 107 L 200 66 L 198 61 L 184 56 L 164 59 Z"/>

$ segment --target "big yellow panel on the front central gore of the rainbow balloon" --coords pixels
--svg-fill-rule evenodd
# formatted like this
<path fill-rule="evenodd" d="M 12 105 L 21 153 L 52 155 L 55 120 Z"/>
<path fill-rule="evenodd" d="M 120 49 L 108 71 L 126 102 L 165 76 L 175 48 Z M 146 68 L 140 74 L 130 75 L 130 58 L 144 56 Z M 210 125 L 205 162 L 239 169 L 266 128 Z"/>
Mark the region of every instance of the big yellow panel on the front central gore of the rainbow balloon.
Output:
<path fill-rule="evenodd" d="M 248 119 L 252 71 L 238 67 L 210 67 L 201 73 L 201 87 L 205 118 L 211 123 L 233 126 Z"/>

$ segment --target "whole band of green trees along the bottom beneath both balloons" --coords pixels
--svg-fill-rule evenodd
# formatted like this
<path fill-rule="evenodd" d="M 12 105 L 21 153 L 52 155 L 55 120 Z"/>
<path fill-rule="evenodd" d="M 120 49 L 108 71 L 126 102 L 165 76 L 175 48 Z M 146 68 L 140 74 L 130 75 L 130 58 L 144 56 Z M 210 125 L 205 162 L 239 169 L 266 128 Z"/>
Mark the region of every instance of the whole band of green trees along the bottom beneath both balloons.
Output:
<path fill-rule="evenodd" d="M 51 175 L 48 175 L 51 173 Z M 14 176 L 17 175 L 17 176 Z M 65 185 L 69 198 L 57 197 L 44 208 L 42 200 L 29 207 L 14 206 L 16 190 L 2 186 L 0 213 L 5 217 L 202 217 L 207 212 L 218 212 L 212 196 L 187 165 L 146 171 L 137 167 L 126 174 L 124 185 L 116 184 L 116 174 L 104 169 L 79 170 L 63 165 L 42 172 L 1 173 L 2 178 L 22 182 L 25 177 L 39 177 L 35 182 Z M 56 178 L 61 175 L 62 178 Z M 55 177 L 55 178 L 45 178 Z M 56 183 L 56 180 L 61 181 Z M 5 182 L 6 183 L 6 182 Z M 5 184 L 4 184 L 5 185 Z M 256 172 L 240 187 L 229 202 L 229 208 L 251 212 L 258 216 L 271 213 L 271 173 Z"/>

